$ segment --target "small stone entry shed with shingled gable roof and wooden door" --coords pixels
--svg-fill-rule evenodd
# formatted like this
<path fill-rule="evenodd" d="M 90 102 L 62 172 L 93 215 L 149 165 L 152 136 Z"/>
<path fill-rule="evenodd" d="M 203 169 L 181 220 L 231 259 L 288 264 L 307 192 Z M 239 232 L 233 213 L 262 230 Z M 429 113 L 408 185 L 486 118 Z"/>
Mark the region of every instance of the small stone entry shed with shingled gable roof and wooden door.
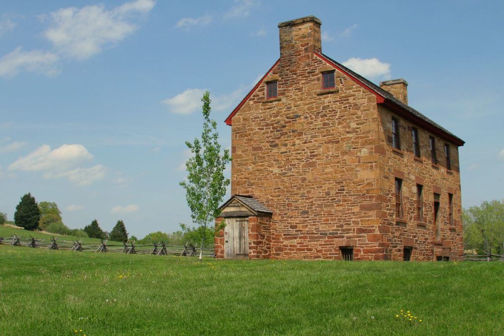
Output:
<path fill-rule="evenodd" d="M 272 211 L 247 195 L 233 195 L 220 210 L 217 223 L 224 220 L 226 225 L 215 237 L 216 256 L 226 259 L 265 257 Z"/>

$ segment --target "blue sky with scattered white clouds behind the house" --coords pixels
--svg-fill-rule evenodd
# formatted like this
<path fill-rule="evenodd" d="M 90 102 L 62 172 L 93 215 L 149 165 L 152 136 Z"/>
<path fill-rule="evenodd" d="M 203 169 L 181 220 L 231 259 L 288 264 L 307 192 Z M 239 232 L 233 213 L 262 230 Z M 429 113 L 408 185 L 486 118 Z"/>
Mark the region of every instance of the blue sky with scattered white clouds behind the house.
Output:
<path fill-rule="evenodd" d="M 315 15 L 323 52 L 408 81 L 409 103 L 466 141 L 463 206 L 502 199 L 504 3 L 44 1 L 0 5 L 0 211 L 55 201 L 80 228 L 190 223 L 184 141 L 199 98 L 224 119 L 279 56 L 281 21 Z"/>

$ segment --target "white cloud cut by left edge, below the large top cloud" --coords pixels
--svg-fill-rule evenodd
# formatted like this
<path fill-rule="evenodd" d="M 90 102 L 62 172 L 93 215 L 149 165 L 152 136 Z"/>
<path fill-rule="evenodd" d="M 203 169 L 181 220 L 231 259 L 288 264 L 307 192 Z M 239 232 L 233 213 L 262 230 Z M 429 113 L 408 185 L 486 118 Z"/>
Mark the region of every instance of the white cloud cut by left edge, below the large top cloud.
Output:
<path fill-rule="evenodd" d="M 10 78 L 20 71 L 55 76 L 59 73 L 56 66 L 58 59 L 58 55 L 49 51 L 23 51 L 17 47 L 0 58 L 0 76 Z"/>

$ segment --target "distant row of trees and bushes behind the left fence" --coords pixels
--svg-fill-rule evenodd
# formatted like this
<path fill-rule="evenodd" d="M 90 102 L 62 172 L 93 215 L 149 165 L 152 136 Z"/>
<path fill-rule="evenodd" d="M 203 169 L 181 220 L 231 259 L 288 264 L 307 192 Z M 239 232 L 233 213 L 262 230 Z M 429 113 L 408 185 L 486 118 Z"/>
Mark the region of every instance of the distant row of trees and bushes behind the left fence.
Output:
<path fill-rule="evenodd" d="M 14 213 L 14 222 L 10 222 L 7 214 L 0 212 L 0 225 L 14 224 L 30 231 L 45 231 L 58 235 L 68 235 L 74 237 L 89 237 L 98 239 L 109 239 L 112 241 L 127 242 L 128 239 L 136 241 L 138 244 L 151 244 L 152 242 L 165 242 L 168 245 L 182 246 L 186 243 L 199 244 L 202 237 L 205 237 L 205 247 L 212 247 L 215 231 L 213 228 L 199 227 L 190 228 L 180 224 L 181 230 L 173 233 L 161 231 L 147 234 L 144 238 L 138 239 L 135 236 L 129 237 L 126 226 L 122 220 L 118 220 L 110 233 L 102 230 L 98 220 L 94 219 L 84 229 L 71 229 L 63 223 L 61 211 L 54 202 L 41 201 L 37 203 L 31 193 L 21 197 Z M 204 230 L 206 230 L 204 232 Z"/>

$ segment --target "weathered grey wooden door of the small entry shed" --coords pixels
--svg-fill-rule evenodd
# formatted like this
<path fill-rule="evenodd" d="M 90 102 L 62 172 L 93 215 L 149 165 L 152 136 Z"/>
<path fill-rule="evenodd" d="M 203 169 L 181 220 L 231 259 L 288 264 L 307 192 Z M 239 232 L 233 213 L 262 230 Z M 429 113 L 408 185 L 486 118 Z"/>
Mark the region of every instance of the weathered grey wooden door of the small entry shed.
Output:
<path fill-rule="evenodd" d="M 227 259 L 248 258 L 248 218 L 226 218 L 224 257 Z"/>

